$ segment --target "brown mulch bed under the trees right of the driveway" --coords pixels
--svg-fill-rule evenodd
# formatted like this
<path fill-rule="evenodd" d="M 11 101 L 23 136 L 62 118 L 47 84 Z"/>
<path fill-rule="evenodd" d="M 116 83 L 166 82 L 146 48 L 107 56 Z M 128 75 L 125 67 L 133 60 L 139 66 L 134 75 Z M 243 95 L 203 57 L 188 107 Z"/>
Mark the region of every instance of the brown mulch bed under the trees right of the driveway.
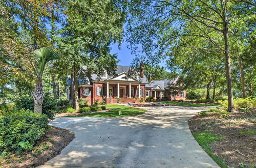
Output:
<path fill-rule="evenodd" d="M 208 113 L 210 114 L 210 113 Z M 245 163 L 245 167 L 256 166 L 256 135 L 246 134 L 241 131 L 256 131 L 256 110 L 251 113 L 237 111 L 230 113 L 229 117 L 221 118 L 221 114 L 211 114 L 209 117 L 196 115 L 188 124 L 192 133 L 197 131 L 209 131 L 212 134 L 224 138 L 210 146 L 212 153 L 224 160 L 230 167 L 240 167 L 239 163 Z"/>

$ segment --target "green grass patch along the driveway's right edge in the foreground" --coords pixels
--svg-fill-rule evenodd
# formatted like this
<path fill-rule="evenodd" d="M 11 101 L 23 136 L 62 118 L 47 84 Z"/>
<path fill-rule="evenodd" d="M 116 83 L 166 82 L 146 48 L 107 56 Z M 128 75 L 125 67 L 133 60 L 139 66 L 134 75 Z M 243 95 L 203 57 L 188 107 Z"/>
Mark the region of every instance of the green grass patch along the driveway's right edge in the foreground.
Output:
<path fill-rule="evenodd" d="M 203 132 L 195 132 L 193 136 L 203 148 L 203 150 L 212 158 L 214 159 L 222 168 L 227 168 L 228 166 L 221 160 L 219 157 L 215 156 L 214 153 L 211 152 L 209 146 L 216 142 L 221 141 L 224 137 L 216 136 L 211 134 L 210 132 L 203 131 Z"/>

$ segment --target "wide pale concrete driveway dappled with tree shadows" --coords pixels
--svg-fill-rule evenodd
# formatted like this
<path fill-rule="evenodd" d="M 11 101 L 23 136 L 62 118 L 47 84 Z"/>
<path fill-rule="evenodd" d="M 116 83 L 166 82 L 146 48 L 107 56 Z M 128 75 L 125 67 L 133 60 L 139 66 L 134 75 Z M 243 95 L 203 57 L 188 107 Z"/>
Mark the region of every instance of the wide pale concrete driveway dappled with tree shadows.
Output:
<path fill-rule="evenodd" d="M 85 118 L 90 121 L 76 124 L 72 119 L 77 118 L 63 119 L 66 125 L 72 124 L 67 129 L 76 138 L 39 167 L 219 167 L 198 145 L 187 124 L 190 117 L 209 107 L 143 108 L 148 112 L 132 117 Z"/>

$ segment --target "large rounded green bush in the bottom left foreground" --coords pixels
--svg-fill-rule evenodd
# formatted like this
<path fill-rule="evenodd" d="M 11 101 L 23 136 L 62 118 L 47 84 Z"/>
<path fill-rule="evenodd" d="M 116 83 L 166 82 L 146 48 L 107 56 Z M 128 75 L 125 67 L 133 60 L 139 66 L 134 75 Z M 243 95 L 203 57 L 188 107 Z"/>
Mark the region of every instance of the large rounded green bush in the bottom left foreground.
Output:
<path fill-rule="evenodd" d="M 45 134 L 49 120 L 46 115 L 30 110 L 13 109 L 0 115 L 0 155 L 6 157 L 9 152 L 20 153 L 32 150 L 38 138 Z"/>

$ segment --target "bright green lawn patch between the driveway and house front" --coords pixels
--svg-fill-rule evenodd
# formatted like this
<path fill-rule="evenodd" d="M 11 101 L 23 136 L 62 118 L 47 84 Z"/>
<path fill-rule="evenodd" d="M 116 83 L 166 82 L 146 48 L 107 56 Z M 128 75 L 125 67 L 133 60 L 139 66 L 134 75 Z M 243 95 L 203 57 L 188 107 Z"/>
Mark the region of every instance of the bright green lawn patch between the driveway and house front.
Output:
<path fill-rule="evenodd" d="M 123 117 L 123 116 L 135 116 L 140 115 L 146 112 L 146 110 L 118 105 L 118 104 L 108 104 L 106 105 L 106 109 L 112 108 L 110 111 L 101 112 L 101 113 L 91 113 L 84 114 L 80 116 L 69 116 L 69 117 Z M 119 115 L 119 111 L 121 111 L 121 115 Z"/>

